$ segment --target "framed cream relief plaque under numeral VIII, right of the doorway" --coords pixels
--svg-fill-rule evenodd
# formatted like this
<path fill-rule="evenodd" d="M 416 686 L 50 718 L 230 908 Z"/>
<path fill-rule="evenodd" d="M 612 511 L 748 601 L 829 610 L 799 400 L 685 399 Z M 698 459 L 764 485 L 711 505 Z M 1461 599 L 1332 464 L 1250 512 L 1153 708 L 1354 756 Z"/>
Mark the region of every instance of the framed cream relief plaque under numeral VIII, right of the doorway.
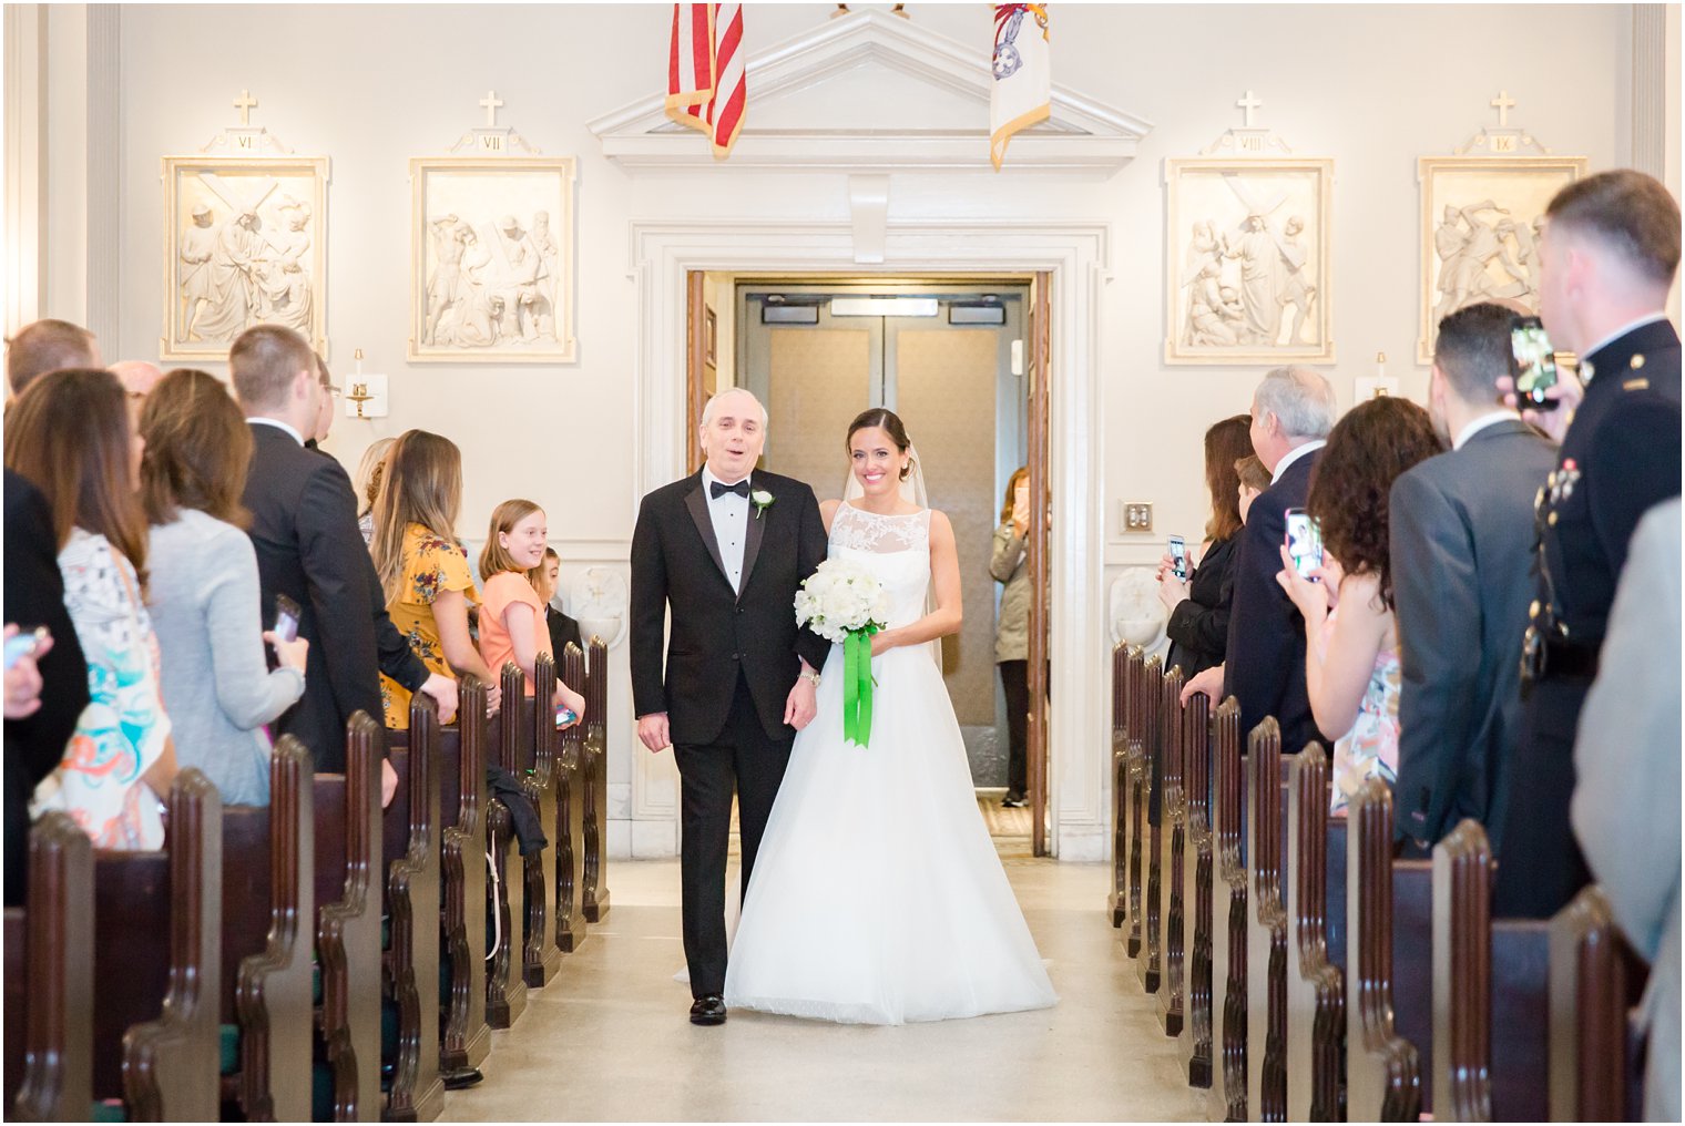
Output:
<path fill-rule="evenodd" d="M 1323 157 L 1171 157 L 1166 364 L 1335 359 Z"/>

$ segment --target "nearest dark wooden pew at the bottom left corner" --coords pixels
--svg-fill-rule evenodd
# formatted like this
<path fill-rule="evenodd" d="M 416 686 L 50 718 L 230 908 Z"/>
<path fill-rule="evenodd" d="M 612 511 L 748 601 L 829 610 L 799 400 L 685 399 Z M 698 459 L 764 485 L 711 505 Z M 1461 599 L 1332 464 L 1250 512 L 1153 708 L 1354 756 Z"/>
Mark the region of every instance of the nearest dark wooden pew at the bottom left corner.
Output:
<path fill-rule="evenodd" d="M 69 816 L 29 831 L 29 892 L 5 909 L 5 1109 L 86 1121 L 94 1070 L 94 853 Z"/>

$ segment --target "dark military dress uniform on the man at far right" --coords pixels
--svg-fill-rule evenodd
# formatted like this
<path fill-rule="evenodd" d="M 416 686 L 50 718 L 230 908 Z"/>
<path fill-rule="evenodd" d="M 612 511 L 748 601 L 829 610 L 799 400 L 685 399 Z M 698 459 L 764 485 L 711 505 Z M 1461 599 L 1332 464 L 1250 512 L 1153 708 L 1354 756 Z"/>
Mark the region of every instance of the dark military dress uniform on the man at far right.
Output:
<path fill-rule="evenodd" d="M 1522 742 L 1493 902 L 1500 915 L 1545 919 L 1591 882 L 1569 824 L 1579 713 L 1633 529 L 1653 504 L 1680 496 L 1673 325 L 1658 319 L 1629 329 L 1586 356 L 1581 373 L 1586 398 L 1535 501 L 1538 593 L 1522 654 Z"/>

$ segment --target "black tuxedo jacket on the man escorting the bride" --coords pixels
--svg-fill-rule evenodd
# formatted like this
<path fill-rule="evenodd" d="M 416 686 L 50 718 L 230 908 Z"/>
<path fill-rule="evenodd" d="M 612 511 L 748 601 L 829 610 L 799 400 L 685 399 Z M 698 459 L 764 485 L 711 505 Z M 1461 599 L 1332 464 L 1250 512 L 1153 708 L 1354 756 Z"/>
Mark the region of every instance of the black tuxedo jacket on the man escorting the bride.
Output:
<path fill-rule="evenodd" d="M 650 492 L 639 507 L 632 533 L 632 701 L 639 716 L 666 711 L 679 747 L 719 737 L 738 676 L 767 735 L 794 737 L 784 706 L 800 661 L 817 669 L 831 651 L 831 642 L 795 625 L 795 590 L 826 558 L 814 491 L 762 470 L 750 475 L 750 487 L 770 492 L 773 502 L 758 512 L 750 506 L 741 593 L 726 578 L 701 470 Z M 666 654 L 664 619 L 671 627 Z"/>

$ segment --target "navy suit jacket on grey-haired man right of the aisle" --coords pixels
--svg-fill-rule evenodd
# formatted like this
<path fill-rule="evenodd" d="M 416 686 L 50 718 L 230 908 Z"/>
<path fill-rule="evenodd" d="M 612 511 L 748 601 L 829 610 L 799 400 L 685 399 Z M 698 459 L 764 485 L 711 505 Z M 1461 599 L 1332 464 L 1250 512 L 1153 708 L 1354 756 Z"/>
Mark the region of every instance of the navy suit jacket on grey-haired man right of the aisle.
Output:
<path fill-rule="evenodd" d="M 1242 737 L 1264 716 L 1276 716 L 1286 753 L 1299 753 L 1311 740 L 1323 740 L 1304 689 L 1304 615 L 1276 582 L 1281 544 L 1287 539 L 1287 509 L 1304 507 L 1311 469 L 1321 455 L 1313 450 L 1289 465 L 1247 511 L 1228 614 L 1223 693 L 1240 701 Z"/>

